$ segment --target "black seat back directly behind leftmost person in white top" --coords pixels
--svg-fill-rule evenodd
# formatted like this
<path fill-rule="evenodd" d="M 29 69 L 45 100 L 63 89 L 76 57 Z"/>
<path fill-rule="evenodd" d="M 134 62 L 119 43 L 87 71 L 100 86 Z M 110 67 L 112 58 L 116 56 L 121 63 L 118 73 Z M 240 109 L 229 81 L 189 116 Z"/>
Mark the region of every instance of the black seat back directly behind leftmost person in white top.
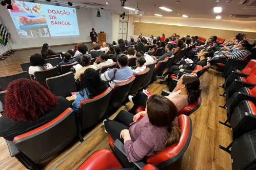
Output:
<path fill-rule="evenodd" d="M 58 76 L 59 73 L 58 73 L 58 68 L 53 67 L 53 68 L 35 71 L 34 75 L 36 77 L 37 82 L 39 82 L 41 85 L 45 86 L 45 88 L 48 89 L 45 80 L 50 77 Z"/>

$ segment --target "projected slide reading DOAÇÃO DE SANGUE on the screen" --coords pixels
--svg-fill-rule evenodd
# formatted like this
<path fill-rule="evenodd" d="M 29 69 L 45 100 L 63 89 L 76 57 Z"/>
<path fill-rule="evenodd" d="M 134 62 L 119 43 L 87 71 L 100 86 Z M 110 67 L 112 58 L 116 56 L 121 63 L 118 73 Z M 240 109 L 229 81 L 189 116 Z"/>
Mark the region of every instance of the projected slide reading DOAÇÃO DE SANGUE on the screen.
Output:
<path fill-rule="evenodd" d="M 75 8 L 12 0 L 9 13 L 21 38 L 78 36 Z"/>

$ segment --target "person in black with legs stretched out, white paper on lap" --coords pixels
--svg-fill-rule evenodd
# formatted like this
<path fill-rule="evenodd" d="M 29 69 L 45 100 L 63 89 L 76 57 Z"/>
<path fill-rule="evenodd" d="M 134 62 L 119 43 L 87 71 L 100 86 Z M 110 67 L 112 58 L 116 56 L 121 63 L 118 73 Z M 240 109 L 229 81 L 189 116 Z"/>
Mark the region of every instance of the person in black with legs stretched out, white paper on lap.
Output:
<path fill-rule="evenodd" d="M 168 75 L 168 79 L 169 79 L 170 77 L 169 75 L 171 74 L 178 75 L 180 71 L 191 73 L 197 67 L 197 65 L 200 65 L 202 67 L 206 66 L 207 65 L 206 58 L 209 57 L 210 55 L 211 55 L 210 49 L 203 49 L 199 53 L 197 53 L 198 58 L 195 62 L 183 64 L 180 66 L 172 66 L 162 76 L 157 76 L 157 78 L 164 80 L 164 77 Z"/>

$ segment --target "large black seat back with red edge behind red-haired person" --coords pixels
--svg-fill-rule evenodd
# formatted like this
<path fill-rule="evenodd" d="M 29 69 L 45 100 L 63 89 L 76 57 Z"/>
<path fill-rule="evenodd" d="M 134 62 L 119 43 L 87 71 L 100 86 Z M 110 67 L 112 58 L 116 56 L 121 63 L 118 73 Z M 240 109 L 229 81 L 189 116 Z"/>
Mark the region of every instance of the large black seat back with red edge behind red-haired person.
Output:
<path fill-rule="evenodd" d="M 6 143 L 11 157 L 15 156 L 27 169 L 38 170 L 40 162 L 59 153 L 77 135 L 76 114 L 67 108 L 52 121 Z"/>

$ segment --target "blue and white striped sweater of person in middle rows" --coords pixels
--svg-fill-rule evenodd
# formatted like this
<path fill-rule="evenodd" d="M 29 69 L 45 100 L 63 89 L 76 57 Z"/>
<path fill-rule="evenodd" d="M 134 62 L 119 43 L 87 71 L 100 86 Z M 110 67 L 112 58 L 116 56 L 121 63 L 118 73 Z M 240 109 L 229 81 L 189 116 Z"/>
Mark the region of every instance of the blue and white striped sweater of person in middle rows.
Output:
<path fill-rule="evenodd" d="M 133 71 L 130 67 L 119 68 L 116 72 L 115 79 L 111 81 L 111 79 L 114 77 L 114 72 L 115 69 L 110 69 L 104 72 L 104 74 L 100 75 L 101 80 L 109 82 L 111 88 L 114 88 L 117 83 L 128 80 L 133 75 Z"/>

